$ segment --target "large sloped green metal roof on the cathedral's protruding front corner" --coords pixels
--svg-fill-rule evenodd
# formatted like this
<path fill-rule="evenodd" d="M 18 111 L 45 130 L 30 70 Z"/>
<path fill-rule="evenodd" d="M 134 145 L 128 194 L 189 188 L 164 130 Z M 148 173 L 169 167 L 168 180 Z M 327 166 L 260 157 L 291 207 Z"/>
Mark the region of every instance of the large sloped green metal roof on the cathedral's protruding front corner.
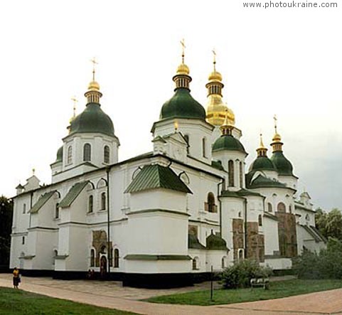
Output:
<path fill-rule="evenodd" d="M 172 169 L 159 164 L 146 165 L 127 187 L 125 193 L 137 193 L 146 189 L 166 188 L 183 193 L 191 193 L 190 189 Z"/>

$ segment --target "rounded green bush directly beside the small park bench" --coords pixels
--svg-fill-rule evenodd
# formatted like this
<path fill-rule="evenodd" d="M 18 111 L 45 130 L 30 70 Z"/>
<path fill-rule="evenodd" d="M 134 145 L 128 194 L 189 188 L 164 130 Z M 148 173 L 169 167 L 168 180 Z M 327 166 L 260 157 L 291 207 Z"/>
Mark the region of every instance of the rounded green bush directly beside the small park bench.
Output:
<path fill-rule="evenodd" d="M 271 274 L 271 268 L 261 267 L 255 260 L 242 260 L 223 270 L 221 283 L 225 289 L 250 287 L 250 279 L 267 278 Z"/>

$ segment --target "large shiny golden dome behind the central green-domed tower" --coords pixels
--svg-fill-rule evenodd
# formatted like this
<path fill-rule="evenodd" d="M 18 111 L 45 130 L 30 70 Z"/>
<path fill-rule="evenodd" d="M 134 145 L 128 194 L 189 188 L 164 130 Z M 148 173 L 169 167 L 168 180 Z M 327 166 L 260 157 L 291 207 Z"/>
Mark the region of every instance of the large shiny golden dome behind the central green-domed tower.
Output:
<path fill-rule="evenodd" d="M 228 123 L 235 124 L 235 114 L 222 100 L 220 95 L 209 95 L 207 103 L 207 121 L 214 126 L 222 126 L 227 115 Z"/>

